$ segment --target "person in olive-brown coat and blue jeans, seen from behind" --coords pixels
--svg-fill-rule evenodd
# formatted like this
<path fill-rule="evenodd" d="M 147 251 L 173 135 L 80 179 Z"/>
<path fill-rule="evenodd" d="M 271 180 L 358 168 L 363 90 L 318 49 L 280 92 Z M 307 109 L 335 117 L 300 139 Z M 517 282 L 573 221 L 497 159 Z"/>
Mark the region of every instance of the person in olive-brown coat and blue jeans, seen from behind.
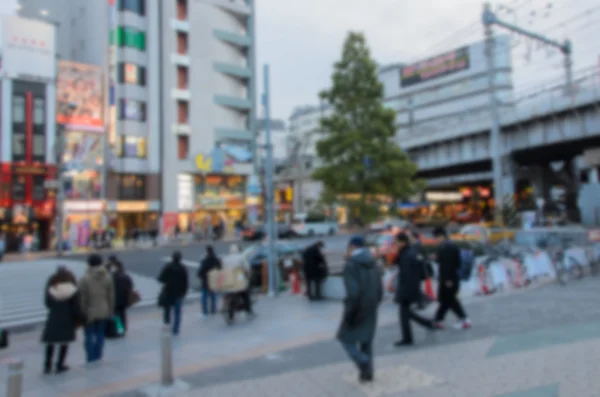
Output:
<path fill-rule="evenodd" d="M 112 276 L 102 257 L 92 254 L 88 257 L 88 269 L 79 281 L 81 310 L 85 314 L 85 352 L 87 362 L 102 359 L 106 323 L 114 314 L 115 287 Z"/>

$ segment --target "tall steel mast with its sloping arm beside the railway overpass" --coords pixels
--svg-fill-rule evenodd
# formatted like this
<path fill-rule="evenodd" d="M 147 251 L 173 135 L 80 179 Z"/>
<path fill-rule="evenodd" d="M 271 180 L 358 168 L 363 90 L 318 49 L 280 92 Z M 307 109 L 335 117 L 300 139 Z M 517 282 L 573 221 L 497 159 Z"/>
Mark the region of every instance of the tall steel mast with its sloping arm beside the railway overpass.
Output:
<path fill-rule="evenodd" d="M 496 92 L 495 92 L 495 40 L 494 34 L 492 31 L 492 27 L 494 25 L 501 26 L 505 29 L 508 29 L 512 32 L 519 33 L 526 37 L 529 37 L 534 40 L 541 41 L 544 44 L 550 45 L 552 47 L 558 48 L 565 56 L 565 93 L 567 95 L 573 94 L 573 73 L 572 73 L 572 46 L 569 40 L 566 40 L 564 43 L 559 43 L 558 41 L 551 40 L 539 34 L 530 32 L 528 30 L 522 29 L 516 25 L 504 22 L 500 20 L 496 14 L 492 11 L 492 6 L 490 3 L 485 3 L 483 5 L 483 14 L 481 17 L 481 21 L 484 27 L 485 33 L 485 55 L 487 59 L 487 69 L 488 69 L 488 91 L 489 91 L 489 101 L 490 101 L 490 117 L 491 117 L 491 127 L 490 127 L 490 151 L 492 157 L 492 172 L 493 172 L 493 183 L 494 183 L 494 203 L 495 203 L 495 218 L 496 221 L 502 223 L 502 209 L 500 208 L 502 203 L 504 202 L 504 194 L 503 194 L 503 186 L 502 186 L 502 175 L 503 175 L 503 154 L 504 154 L 504 145 L 502 145 L 502 141 L 500 138 L 501 135 L 501 126 L 500 126 L 500 113 L 498 109 L 498 101 L 496 100 Z"/>

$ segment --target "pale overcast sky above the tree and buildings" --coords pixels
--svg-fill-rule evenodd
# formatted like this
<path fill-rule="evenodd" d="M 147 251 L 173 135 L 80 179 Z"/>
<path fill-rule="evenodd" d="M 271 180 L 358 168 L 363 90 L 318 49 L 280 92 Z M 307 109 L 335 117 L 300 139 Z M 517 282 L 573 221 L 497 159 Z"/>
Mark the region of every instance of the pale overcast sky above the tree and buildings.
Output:
<path fill-rule="evenodd" d="M 258 71 L 262 73 L 265 62 L 271 65 L 272 117 L 286 120 L 294 107 L 317 103 L 318 92 L 330 84 L 332 65 L 341 54 L 348 30 L 366 34 L 373 56 L 381 64 L 427 58 L 479 40 L 483 35 L 481 0 L 256 3 Z M 598 65 L 598 0 L 504 0 L 493 4 L 498 15 L 508 22 L 558 40 L 569 37 L 574 46 L 575 71 Z M 0 13 L 15 7 L 16 0 L 0 0 Z M 562 57 L 556 50 L 517 40 L 517 36 L 513 42 L 518 44 L 512 53 L 516 91 L 563 78 Z"/>

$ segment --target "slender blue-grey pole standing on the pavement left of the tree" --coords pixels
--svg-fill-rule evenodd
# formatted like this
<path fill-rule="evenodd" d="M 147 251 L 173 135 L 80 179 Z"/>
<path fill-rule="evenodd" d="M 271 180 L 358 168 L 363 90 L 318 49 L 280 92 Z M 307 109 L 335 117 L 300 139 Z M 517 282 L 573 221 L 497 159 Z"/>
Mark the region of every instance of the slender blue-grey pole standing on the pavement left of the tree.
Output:
<path fill-rule="evenodd" d="M 267 255 L 269 269 L 269 297 L 275 297 L 279 292 L 279 277 L 277 269 L 277 252 L 275 250 L 275 207 L 273 202 L 273 145 L 271 142 L 271 105 L 269 88 L 269 65 L 263 68 L 264 93 L 262 104 L 265 109 L 265 147 L 267 158 L 265 161 L 265 189 L 266 189 L 266 215 L 267 215 Z"/>

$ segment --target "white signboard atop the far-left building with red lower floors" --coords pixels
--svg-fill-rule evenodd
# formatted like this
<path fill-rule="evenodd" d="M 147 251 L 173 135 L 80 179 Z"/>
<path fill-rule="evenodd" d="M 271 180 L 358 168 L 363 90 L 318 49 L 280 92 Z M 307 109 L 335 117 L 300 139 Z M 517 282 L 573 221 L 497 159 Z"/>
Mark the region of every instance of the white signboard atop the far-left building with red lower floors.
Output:
<path fill-rule="evenodd" d="M 55 26 L 32 19 L 2 18 L 2 72 L 9 78 L 56 78 Z"/>

